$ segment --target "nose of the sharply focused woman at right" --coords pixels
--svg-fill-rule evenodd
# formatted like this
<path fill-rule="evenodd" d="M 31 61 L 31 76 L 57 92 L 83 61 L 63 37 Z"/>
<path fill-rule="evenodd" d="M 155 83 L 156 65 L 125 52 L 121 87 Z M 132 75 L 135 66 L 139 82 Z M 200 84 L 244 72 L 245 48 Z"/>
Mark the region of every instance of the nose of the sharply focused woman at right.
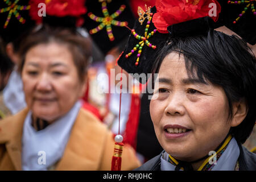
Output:
<path fill-rule="evenodd" d="M 184 96 L 183 92 L 175 91 L 172 92 L 167 100 L 167 105 L 164 113 L 167 115 L 184 115 Z"/>

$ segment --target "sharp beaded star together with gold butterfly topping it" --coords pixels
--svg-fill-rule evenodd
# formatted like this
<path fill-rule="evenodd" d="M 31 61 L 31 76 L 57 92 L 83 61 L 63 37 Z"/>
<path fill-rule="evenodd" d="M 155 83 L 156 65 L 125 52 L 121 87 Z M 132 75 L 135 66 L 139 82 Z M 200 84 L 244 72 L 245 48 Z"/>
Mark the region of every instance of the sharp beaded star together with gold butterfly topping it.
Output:
<path fill-rule="evenodd" d="M 146 11 L 143 11 L 141 7 L 138 7 L 138 14 L 139 14 L 139 22 L 142 24 L 144 22 L 144 20 L 147 18 L 147 25 L 146 25 L 146 28 L 145 28 L 145 32 L 144 32 L 144 36 L 141 36 L 141 35 L 138 35 L 135 30 L 131 30 L 131 33 L 133 34 L 134 38 L 135 39 L 138 39 L 138 40 L 141 40 L 141 42 L 139 42 L 138 44 L 136 44 L 136 46 L 131 49 L 131 52 L 127 53 L 127 55 L 125 55 L 125 58 L 127 59 L 128 57 L 130 57 L 135 51 L 138 50 L 138 54 L 137 54 L 137 60 L 136 60 L 136 63 L 135 63 L 135 66 L 138 66 L 139 64 L 139 57 L 141 56 L 141 53 L 142 53 L 142 48 L 144 46 L 144 44 L 146 44 L 146 46 L 152 48 L 152 49 L 156 49 L 156 46 L 152 45 L 148 39 L 155 34 L 155 32 L 157 31 L 157 29 L 154 29 L 153 31 L 151 31 L 149 34 L 148 33 L 148 30 L 149 30 L 149 27 L 150 27 L 150 22 L 151 22 L 151 19 L 152 19 L 152 13 L 150 13 L 150 7 L 146 7 Z M 145 18 L 145 15 L 146 15 L 146 18 Z"/>

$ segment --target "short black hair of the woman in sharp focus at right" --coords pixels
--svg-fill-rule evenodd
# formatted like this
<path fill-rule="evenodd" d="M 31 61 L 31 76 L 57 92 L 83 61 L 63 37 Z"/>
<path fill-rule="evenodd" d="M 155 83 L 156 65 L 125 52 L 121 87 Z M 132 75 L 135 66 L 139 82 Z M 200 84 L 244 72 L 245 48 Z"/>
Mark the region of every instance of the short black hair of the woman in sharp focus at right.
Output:
<path fill-rule="evenodd" d="M 172 38 L 160 49 L 152 73 L 158 73 L 164 57 L 171 52 L 184 56 L 189 77 L 221 86 L 232 104 L 245 100 L 247 115 L 230 133 L 240 143 L 250 136 L 256 120 L 256 60 L 246 42 L 237 36 L 210 30 L 208 34 Z"/>

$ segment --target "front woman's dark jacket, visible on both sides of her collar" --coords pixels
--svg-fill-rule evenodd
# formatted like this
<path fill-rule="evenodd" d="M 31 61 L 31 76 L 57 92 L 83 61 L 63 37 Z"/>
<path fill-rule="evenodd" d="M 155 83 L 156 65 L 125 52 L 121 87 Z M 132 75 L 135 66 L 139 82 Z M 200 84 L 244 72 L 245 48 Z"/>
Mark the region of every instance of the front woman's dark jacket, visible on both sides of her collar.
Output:
<path fill-rule="evenodd" d="M 256 171 L 256 154 L 248 151 L 240 143 L 238 143 L 238 147 L 240 149 L 240 155 L 238 157 L 239 170 Z M 141 167 L 134 169 L 134 171 L 160 171 L 160 158 L 163 153 L 164 151 L 162 151 L 160 155 L 148 160 L 148 162 L 144 163 Z"/>

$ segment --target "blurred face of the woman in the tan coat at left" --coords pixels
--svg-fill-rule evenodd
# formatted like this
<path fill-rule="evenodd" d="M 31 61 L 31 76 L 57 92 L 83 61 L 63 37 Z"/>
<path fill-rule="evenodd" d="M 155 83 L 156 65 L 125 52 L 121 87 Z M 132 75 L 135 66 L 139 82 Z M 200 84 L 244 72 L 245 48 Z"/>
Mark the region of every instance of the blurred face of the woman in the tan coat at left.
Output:
<path fill-rule="evenodd" d="M 71 52 L 58 43 L 28 50 L 22 80 L 28 108 L 48 122 L 66 114 L 85 90 Z"/>

